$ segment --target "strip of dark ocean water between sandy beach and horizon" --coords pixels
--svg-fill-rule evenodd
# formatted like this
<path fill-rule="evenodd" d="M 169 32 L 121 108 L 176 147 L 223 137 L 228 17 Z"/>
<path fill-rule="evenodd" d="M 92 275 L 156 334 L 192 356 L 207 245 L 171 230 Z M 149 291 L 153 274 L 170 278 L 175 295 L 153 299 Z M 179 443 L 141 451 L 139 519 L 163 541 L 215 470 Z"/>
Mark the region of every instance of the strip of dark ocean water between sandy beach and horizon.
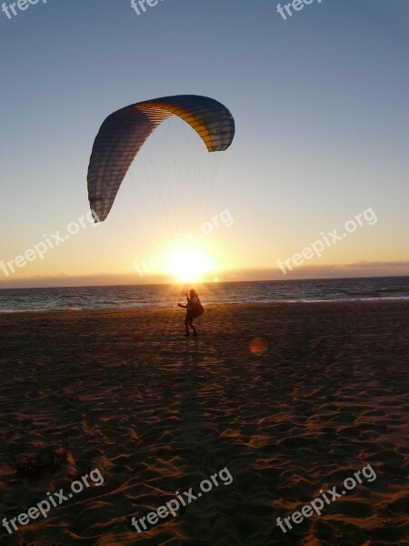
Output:
<path fill-rule="evenodd" d="M 192 288 L 192 287 L 191 287 Z M 409 299 L 409 277 L 332 278 L 195 284 L 204 305 Z M 178 285 L 0 289 L 0 312 L 171 308 Z"/>

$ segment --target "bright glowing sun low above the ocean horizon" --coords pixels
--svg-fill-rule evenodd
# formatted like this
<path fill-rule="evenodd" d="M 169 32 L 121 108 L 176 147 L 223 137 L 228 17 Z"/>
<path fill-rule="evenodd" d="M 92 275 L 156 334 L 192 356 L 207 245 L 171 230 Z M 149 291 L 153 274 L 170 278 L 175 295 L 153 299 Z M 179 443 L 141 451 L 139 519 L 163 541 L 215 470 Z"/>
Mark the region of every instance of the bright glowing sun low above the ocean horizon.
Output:
<path fill-rule="evenodd" d="M 212 269 L 213 264 L 205 252 L 196 248 L 177 250 L 166 264 L 166 271 L 180 282 L 201 280 L 203 275 Z"/>

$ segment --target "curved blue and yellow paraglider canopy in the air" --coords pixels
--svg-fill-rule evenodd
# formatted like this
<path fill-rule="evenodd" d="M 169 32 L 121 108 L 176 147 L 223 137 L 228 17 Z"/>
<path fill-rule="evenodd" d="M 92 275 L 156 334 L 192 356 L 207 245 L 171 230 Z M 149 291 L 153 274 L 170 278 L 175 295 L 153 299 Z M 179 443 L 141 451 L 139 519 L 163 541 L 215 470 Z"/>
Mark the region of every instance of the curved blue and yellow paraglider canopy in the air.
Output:
<path fill-rule="evenodd" d="M 119 187 L 148 136 L 171 116 L 179 116 L 202 138 L 209 152 L 226 150 L 234 138 L 234 118 L 213 98 L 165 96 L 135 103 L 106 117 L 88 167 L 88 198 L 95 221 L 108 216 Z"/>

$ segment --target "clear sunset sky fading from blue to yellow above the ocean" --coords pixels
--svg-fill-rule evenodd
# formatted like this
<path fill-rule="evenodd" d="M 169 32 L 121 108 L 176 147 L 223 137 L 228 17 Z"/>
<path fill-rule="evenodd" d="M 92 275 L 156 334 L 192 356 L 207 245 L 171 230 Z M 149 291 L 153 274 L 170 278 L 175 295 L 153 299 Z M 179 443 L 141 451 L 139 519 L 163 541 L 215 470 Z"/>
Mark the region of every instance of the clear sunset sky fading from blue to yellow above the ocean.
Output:
<path fill-rule="evenodd" d="M 202 262 L 219 281 L 409 275 L 406 0 L 315 0 L 285 20 L 275 0 L 160 0 L 141 15 L 131 0 L 11 4 L 0 288 L 159 282 Z M 227 106 L 232 146 L 208 154 L 165 122 L 93 226 L 99 126 L 179 94 Z"/>

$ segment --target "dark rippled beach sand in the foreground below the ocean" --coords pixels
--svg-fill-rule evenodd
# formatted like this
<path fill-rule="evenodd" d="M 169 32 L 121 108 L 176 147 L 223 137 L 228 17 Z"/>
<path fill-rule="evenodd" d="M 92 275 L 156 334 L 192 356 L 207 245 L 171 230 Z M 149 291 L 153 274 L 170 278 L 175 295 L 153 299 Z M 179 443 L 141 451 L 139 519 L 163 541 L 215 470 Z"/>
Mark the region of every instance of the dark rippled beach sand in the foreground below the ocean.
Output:
<path fill-rule="evenodd" d="M 0 544 L 408 544 L 409 304 L 213 306 L 0 316 L 0 518 L 85 489 Z M 258 340 L 256 338 L 259 338 Z M 255 339 L 255 340 L 254 340 Z M 68 440 L 59 470 L 7 464 Z M 293 529 L 278 517 L 357 483 Z M 141 518 L 224 467 L 233 477 L 149 531 Z"/>

